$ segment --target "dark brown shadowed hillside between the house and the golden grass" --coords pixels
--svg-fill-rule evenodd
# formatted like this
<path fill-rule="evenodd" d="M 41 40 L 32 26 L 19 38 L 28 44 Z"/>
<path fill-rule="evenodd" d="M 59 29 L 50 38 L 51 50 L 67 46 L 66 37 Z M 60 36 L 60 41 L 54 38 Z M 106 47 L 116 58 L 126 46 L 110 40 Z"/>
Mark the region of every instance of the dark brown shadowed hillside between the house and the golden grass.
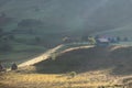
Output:
<path fill-rule="evenodd" d="M 70 51 L 58 55 L 55 59 L 46 59 L 35 65 L 38 73 L 84 73 L 96 69 L 112 68 L 111 74 L 132 74 L 132 47 L 90 47 Z"/>

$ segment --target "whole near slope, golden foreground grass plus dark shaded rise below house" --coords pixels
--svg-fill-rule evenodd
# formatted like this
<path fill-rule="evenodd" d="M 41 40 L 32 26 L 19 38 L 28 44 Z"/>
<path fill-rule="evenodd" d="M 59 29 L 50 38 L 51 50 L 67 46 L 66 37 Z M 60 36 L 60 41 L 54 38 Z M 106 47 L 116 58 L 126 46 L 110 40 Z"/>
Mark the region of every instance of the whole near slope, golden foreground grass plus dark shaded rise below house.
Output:
<path fill-rule="evenodd" d="M 7 88 L 97 88 L 121 84 L 121 78 L 124 78 L 123 81 L 131 82 L 131 77 L 127 78 L 132 73 L 131 51 L 132 47 L 124 46 L 70 51 L 59 55 L 55 61 L 44 61 L 34 66 L 24 67 L 24 70 L 19 69 L 18 73 L 1 74 L 0 84 L 2 87 L 8 86 Z M 106 55 L 110 55 L 110 58 Z M 75 63 L 82 63 L 85 67 L 72 66 Z M 73 70 L 77 72 L 75 77 L 70 75 Z"/>

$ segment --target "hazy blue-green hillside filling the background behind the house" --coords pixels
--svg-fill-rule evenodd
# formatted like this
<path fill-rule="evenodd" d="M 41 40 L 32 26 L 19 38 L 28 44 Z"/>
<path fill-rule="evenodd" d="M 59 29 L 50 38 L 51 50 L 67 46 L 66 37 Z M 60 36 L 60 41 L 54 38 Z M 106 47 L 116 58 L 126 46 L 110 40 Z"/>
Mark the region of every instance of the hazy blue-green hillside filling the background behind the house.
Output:
<path fill-rule="evenodd" d="M 12 48 L 36 46 L 41 53 L 65 36 L 80 41 L 100 34 L 131 41 L 131 0 L 0 0 L 0 28 L 15 37 Z M 4 57 L 10 55 L 0 58 Z"/>

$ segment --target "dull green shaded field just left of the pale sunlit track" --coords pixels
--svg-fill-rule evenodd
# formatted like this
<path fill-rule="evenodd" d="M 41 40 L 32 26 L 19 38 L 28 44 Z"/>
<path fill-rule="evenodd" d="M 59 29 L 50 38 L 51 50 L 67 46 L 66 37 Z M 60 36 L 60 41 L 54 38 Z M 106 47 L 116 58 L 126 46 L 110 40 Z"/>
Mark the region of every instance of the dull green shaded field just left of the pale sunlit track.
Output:
<path fill-rule="evenodd" d="M 34 58 L 47 50 L 43 46 L 25 45 L 21 43 L 13 43 L 12 45 L 13 50 L 11 52 L 1 53 L 0 55 L 1 63 L 3 63 L 7 67 L 9 67 L 13 62 L 20 64 Z"/>

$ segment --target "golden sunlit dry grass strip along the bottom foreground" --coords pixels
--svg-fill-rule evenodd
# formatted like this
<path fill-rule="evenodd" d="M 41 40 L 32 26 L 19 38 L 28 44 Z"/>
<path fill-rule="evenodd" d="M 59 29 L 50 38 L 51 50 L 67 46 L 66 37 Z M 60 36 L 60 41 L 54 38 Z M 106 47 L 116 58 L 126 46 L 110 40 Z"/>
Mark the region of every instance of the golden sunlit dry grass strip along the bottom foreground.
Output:
<path fill-rule="evenodd" d="M 2 74 L 0 88 L 97 88 L 113 85 L 114 76 L 106 70 L 78 74 Z"/>

